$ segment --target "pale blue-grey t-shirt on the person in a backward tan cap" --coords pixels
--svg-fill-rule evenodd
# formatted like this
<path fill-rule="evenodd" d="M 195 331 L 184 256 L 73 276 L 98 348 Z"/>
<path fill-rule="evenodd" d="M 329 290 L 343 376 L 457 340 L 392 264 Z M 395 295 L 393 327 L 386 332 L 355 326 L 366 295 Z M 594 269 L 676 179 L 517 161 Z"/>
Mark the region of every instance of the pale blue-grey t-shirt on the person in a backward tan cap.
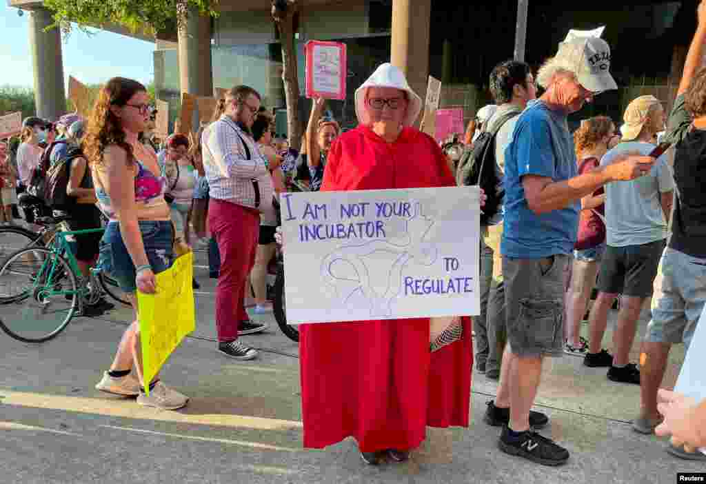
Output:
<path fill-rule="evenodd" d="M 630 141 L 620 143 L 601 159 L 611 164 L 628 152 L 649 155 L 654 145 Z M 614 181 L 606 190 L 606 243 L 611 247 L 642 246 L 669 235 L 659 195 L 674 190 L 674 176 L 666 155 L 657 158 L 650 173 L 633 181 Z"/>

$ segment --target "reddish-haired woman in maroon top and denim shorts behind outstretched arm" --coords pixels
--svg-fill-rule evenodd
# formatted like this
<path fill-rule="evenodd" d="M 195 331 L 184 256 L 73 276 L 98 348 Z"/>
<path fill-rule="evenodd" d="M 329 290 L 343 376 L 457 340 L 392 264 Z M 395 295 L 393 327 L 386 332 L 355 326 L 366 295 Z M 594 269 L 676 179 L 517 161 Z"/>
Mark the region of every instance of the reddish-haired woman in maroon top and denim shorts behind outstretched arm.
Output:
<path fill-rule="evenodd" d="M 578 159 L 579 175 L 600 166 L 601 158 L 618 144 L 620 136 L 609 117 L 596 116 L 582 121 L 574 133 L 574 147 Z M 581 199 L 578 238 L 574 246 L 571 277 L 566 291 L 566 344 L 564 351 L 575 356 L 584 356 L 588 341 L 580 337 L 580 324 L 586 313 L 588 299 L 596 284 L 599 262 L 606 248 L 606 225 L 604 202 L 606 195 L 599 188 Z"/>

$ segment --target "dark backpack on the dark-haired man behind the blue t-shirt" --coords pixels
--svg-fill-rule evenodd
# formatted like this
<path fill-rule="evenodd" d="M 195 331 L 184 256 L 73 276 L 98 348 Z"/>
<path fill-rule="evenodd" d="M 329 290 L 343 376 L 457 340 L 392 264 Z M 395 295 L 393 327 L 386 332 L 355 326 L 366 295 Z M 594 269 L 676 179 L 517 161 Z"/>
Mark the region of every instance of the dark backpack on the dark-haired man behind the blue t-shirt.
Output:
<path fill-rule="evenodd" d="M 483 131 L 469 147 L 465 147 L 456 170 L 456 183 L 458 186 L 480 186 L 488 197 L 483 212 L 481 212 L 481 225 L 487 225 L 500 210 L 505 190 L 498 188 L 501 185 L 496 172 L 495 140 L 500 128 L 507 121 L 519 116 L 520 112 L 510 111 L 503 114 L 493 131 Z"/>

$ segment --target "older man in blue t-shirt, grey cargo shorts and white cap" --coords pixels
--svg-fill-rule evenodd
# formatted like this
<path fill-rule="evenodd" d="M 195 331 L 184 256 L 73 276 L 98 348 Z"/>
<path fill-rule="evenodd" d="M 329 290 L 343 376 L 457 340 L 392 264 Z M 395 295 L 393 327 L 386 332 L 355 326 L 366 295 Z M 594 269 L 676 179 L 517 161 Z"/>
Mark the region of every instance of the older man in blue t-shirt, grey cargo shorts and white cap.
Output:
<path fill-rule="evenodd" d="M 577 176 L 566 116 L 599 92 L 616 89 L 610 49 L 597 37 L 560 44 L 539 69 L 546 92 L 527 104 L 505 151 L 505 229 L 501 242 L 508 347 L 500 385 L 484 420 L 503 425 L 498 447 L 556 466 L 569 453 L 534 432 L 549 419 L 531 412 L 543 356 L 563 354 L 563 296 L 568 254 L 578 231 L 578 200 L 610 181 L 650 171 L 654 159 L 625 155 L 609 167 Z"/>

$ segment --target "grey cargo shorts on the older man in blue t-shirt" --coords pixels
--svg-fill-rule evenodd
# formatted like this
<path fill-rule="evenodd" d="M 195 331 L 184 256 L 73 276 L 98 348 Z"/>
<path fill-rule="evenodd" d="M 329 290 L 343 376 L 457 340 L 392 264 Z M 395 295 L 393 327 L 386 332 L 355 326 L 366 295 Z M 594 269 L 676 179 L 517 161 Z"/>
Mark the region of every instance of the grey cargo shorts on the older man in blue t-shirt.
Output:
<path fill-rule="evenodd" d="M 510 351 L 520 357 L 563 355 L 568 255 L 503 256 L 505 321 Z"/>

